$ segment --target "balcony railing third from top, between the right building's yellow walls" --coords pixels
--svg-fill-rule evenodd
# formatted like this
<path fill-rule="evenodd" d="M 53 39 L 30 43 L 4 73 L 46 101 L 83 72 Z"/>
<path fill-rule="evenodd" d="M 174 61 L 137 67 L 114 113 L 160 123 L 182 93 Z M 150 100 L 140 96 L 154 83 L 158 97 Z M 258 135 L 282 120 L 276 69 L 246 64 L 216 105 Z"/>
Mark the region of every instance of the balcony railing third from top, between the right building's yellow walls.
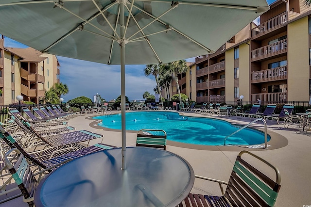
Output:
<path fill-rule="evenodd" d="M 287 79 L 287 66 L 276 67 L 267 70 L 259 70 L 251 73 L 251 83 L 268 82 Z"/>

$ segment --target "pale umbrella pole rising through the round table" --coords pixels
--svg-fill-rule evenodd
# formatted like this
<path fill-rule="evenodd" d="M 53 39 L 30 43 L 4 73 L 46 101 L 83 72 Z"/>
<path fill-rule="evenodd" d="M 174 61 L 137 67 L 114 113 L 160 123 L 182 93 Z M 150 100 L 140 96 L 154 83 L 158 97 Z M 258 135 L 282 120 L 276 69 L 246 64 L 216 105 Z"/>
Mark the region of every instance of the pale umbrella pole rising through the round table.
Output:
<path fill-rule="evenodd" d="M 125 43 L 124 38 L 124 0 L 120 0 L 120 34 L 121 34 L 121 136 L 122 136 L 122 170 L 126 169 L 126 126 L 125 126 Z"/>

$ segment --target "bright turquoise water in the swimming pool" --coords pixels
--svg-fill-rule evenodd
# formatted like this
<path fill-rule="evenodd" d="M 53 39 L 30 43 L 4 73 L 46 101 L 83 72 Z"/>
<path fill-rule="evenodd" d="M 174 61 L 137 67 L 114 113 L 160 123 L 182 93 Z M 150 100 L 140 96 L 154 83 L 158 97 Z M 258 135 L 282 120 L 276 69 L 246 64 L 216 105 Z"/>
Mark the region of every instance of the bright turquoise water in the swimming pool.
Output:
<path fill-rule="evenodd" d="M 97 116 L 95 119 L 103 120 L 98 124 L 101 127 L 121 129 L 121 113 L 112 116 Z M 126 130 L 138 131 L 142 128 L 163 129 L 167 133 L 167 139 L 175 142 L 224 145 L 225 137 L 240 127 L 219 119 L 181 116 L 171 111 L 127 112 Z M 241 130 L 226 140 L 227 145 L 261 143 L 264 143 L 264 133 L 249 128 Z"/>

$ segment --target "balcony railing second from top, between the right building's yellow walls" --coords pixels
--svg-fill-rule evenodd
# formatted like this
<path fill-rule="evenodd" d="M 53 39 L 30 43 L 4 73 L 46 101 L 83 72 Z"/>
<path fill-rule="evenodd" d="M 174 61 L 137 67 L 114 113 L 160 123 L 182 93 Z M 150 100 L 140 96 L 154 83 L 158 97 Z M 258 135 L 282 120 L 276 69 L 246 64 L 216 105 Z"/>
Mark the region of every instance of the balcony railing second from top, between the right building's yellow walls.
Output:
<path fill-rule="evenodd" d="M 251 61 L 253 62 L 261 59 L 270 58 L 286 52 L 287 52 L 287 39 L 284 39 L 276 43 L 264 46 L 262 48 L 252 50 Z"/>

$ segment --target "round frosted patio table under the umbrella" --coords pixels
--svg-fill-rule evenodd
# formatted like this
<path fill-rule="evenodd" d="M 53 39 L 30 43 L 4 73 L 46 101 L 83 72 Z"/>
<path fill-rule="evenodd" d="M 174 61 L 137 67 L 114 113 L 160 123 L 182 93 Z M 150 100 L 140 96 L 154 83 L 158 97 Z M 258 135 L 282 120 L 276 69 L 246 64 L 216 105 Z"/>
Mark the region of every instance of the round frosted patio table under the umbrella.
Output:
<path fill-rule="evenodd" d="M 175 207 L 194 183 L 190 164 L 150 147 L 127 147 L 74 159 L 47 175 L 35 191 L 36 207 Z"/>

